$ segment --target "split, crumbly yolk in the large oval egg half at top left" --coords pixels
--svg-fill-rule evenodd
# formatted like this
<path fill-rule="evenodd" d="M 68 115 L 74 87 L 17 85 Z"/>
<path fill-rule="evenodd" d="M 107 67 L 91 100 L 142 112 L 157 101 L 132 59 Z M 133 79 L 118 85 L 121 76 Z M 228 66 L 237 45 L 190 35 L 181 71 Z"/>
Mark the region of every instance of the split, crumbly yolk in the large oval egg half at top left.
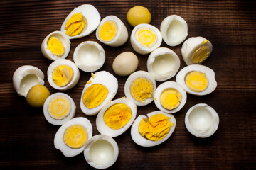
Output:
<path fill-rule="evenodd" d="M 84 21 L 85 20 L 85 21 Z M 70 37 L 79 35 L 83 28 L 86 26 L 87 21 L 83 18 L 81 13 L 75 13 L 73 16 L 68 19 L 65 24 L 66 34 Z"/>

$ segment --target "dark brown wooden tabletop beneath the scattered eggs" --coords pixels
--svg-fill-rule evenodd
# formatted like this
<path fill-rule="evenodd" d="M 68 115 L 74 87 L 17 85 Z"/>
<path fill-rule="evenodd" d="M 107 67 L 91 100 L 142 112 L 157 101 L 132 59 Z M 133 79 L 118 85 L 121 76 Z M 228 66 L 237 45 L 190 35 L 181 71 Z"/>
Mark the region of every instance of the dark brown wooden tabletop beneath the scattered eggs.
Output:
<path fill-rule="evenodd" d="M 83 154 L 65 157 L 53 145 L 59 126 L 51 125 L 41 108 L 28 106 L 26 98 L 18 96 L 12 75 L 18 67 L 31 64 L 45 74 L 50 60 L 41 53 L 41 42 L 49 33 L 60 30 L 68 13 L 81 4 L 92 4 L 104 18 L 118 16 L 129 26 L 126 15 L 133 6 L 145 6 L 151 11 L 151 24 L 160 28 L 161 21 L 171 14 L 188 23 L 188 38 L 203 36 L 213 43 L 213 52 L 203 64 L 215 71 L 217 89 L 207 96 L 188 94 L 186 105 L 178 113 L 176 130 L 169 140 L 156 147 L 136 145 L 130 129 L 114 137 L 119 145 L 119 157 L 110 169 L 256 169 L 256 3 L 252 1 L 1 1 L 0 2 L 0 169 L 92 169 Z M 73 60 L 75 47 L 85 40 L 99 42 L 95 32 L 85 38 L 71 40 L 68 60 Z M 108 47 L 100 70 L 112 71 L 114 57 L 132 50 L 129 40 L 122 47 Z M 181 44 L 182 45 L 182 44 Z M 174 50 L 181 57 L 181 45 L 161 47 Z M 137 54 L 137 53 L 136 53 Z M 148 55 L 139 55 L 137 70 L 146 70 Z M 118 77 L 119 89 L 114 98 L 124 96 L 127 77 Z M 68 91 L 77 105 L 76 115 L 85 116 L 99 134 L 96 116 L 86 116 L 80 110 L 80 95 L 90 73 L 80 71 L 78 84 Z M 170 79 L 174 81 L 175 78 Z M 159 82 L 157 83 L 159 85 Z M 207 103 L 220 117 L 217 132 L 211 137 L 193 137 L 184 125 L 186 111 L 196 103 Z M 156 111 L 154 102 L 139 106 L 137 115 Z"/>

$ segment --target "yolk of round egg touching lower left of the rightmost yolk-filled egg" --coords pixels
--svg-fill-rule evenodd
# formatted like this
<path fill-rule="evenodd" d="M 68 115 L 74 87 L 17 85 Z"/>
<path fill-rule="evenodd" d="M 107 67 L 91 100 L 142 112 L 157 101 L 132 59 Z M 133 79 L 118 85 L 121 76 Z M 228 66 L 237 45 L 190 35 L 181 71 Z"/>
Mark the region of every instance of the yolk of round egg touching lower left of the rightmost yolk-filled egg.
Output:
<path fill-rule="evenodd" d="M 160 102 L 161 106 L 171 110 L 177 108 L 181 103 L 182 95 L 176 89 L 166 89 L 161 93 Z"/>

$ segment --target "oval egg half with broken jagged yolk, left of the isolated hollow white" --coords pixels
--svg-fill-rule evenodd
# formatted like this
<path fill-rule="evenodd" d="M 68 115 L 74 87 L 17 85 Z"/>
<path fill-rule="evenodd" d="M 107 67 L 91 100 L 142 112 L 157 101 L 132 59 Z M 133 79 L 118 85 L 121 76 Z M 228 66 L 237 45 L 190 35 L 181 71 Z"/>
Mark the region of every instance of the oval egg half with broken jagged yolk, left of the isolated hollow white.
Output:
<path fill-rule="evenodd" d="M 132 124 L 132 140 L 142 147 L 153 147 L 166 141 L 175 127 L 174 115 L 162 111 L 139 115 Z"/>

